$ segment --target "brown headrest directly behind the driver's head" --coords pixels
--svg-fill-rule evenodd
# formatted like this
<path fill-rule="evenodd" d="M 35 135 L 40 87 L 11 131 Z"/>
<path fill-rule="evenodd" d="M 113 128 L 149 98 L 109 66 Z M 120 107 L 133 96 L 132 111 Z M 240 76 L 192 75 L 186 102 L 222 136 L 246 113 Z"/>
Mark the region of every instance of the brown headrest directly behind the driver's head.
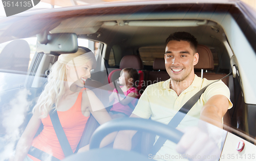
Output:
<path fill-rule="evenodd" d="M 198 45 L 197 52 L 199 54 L 199 61 L 194 69 L 214 69 L 214 57 L 209 49 L 205 45 Z"/>

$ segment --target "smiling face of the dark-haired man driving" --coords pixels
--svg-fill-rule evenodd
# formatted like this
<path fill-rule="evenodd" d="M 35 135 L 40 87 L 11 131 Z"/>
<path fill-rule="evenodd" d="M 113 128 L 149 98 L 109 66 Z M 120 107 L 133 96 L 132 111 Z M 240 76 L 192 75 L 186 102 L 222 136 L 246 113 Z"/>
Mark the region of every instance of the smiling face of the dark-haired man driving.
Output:
<path fill-rule="evenodd" d="M 182 82 L 194 79 L 194 65 L 198 63 L 198 53 L 188 41 L 169 41 L 165 48 L 165 68 L 172 81 Z"/>

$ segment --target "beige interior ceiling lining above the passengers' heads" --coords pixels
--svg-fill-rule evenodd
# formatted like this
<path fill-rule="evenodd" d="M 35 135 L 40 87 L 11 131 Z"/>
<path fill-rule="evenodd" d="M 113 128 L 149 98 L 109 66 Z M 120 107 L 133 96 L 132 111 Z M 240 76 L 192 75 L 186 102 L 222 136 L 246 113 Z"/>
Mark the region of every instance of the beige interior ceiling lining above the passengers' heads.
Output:
<path fill-rule="evenodd" d="M 161 14 L 161 20 L 164 20 L 166 17 L 167 20 L 170 19 L 170 14 Z M 212 17 L 212 14 L 203 14 L 203 16 L 199 16 L 198 14 L 194 14 L 194 16 L 189 16 L 187 20 L 207 20 L 207 18 Z M 210 15 L 210 16 L 209 16 Z M 124 18 L 126 17 L 126 19 Z M 145 18 L 146 17 L 146 18 Z M 199 25 L 199 26 L 186 26 L 186 27 L 166 27 L 166 26 L 119 26 L 119 25 L 105 25 L 104 22 L 108 21 L 135 21 L 135 20 L 159 20 L 156 17 L 160 17 L 159 13 L 151 13 L 151 14 L 136 14 L 136 15 L 109 15 L 109 16 L 92 16 L 92 17 L 84 17 L 84 18 L 73 18 L 63 20 L 57 28 L 51 31 L 51 33 L 57 33 L 58 31 L 62 32 L 75 32 L 76 34 L 80 35 L 79 37 L 93 39 L 95 41 L 103 42 L 108 45 L 114 45 L 118 42 L 125 42 L 125 44 L 129 44 L 129 46 L 133 45 L 150 45 L 150 44 L 163 44 L 164 40 L 166 39 L 166 35 L 169 35 L 172 32 L 176 31 L 187 31 L 193 35 L 196 35 L 198 40 L 202 41 L 203 43 L 207 43 L 205 45 L 212 44 L 212 42 L 207 42 L 209 40 L 208 37 L 212 37 L 212 39 L 218 39 L 219 41 L 225 41 L 225 35 L 223 36 L 223 29 L 221 26 L 214 21 L 208 21 L 207 24 L 210 25 Z M 185 16 L 186 17 L 186 16 Z M 194 18 L 193 18 L 194 17 Z M 200 19 L 195 19 L 195 17 L 201 17 Z M 219 16 L 218 16 L 219 17 Z M 175 20 L 184 20 L 184 14 L 175 14 L 172 16 Z M 75 20 L 74 20 L 75 19 Z M 84 29 L 81 28 L 81 21 L 84 21 Z M 222 21 L 219 18 L 219 21 Z M 215 24 L 214 24 L 215 23 Z M 69 24 L 69 25 L 65 25 Z M 214 24 L 214 25 L 211 25 Z M 101 25 L 101 26 L 100 26 Z M 100 27 L 100 28 L 99 28 Z M 212 30 L 212 27 L 218 29 L 218 32 Z M 94 30 L 99 28 L 99 30 Z M 66 31 L 65 31 L 66 30 Z M 81 30 L 83 30 L 84 34 L 81 34 Z M 89 32 L 86 32 L 89 31 Z M 204 32 L 202 32 L 204 31 Z M 147 33 L 145 33 L 147 32 Z M 96 33 L 96 34 L 93 34 Z M 102 34 L 103 33 L 103 34 Z M 100 36 L 99 36 L 100 35 Z M 116 36 L 118 35 L 118 37 Z M 147 38 L 142 37 L 142 35 L 147 35 Z M 112 39 L 115 37 L 115 39 Z M 120 39 L 124 37 L 123 39 Z M 206 37 L 206 38 L 204 38 Z M 144 41 L 141 41 L 143 39 Z M 135 41 L 138 40 L 138 41 Z M 147 40 L 147 41 L 145 41 Z M 155 40 L 155 41 L 154 41 Z M 144 44 L 140 44 L 144 43 Z M 201 43 L 201 42 L 200 42 Z M 201 43 L 201 44 L 203 44 Z"/>

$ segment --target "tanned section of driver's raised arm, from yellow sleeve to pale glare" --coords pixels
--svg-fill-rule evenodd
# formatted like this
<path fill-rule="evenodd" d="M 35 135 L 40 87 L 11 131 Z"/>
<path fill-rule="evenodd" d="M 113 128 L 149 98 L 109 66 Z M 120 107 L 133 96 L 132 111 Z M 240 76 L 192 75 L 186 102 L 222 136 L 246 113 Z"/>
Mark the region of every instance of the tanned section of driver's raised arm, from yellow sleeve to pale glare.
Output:
<path fill-rule="evenodd" d="M 224 95 L 214 95 L 203 106 L 200 119 L 223 128 L 222 118 L 228 110 L 229 100 Z"/>

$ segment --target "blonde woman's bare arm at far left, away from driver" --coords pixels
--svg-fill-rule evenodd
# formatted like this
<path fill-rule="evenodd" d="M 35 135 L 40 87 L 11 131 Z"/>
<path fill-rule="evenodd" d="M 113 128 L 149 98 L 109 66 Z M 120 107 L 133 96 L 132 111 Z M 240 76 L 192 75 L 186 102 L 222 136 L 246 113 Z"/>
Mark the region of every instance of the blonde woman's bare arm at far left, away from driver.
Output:
<path fill-rule="evenodd" d="M 35 109 L 33 116 L 31 117 L 26 129 L 24 130 L 22 137 L 20 137 L 15 150 L 14 161 L 23 161 L 26 157 L 34 136 L 41 125 L 41 119 L 39 119 L 39 109 Z"/>

